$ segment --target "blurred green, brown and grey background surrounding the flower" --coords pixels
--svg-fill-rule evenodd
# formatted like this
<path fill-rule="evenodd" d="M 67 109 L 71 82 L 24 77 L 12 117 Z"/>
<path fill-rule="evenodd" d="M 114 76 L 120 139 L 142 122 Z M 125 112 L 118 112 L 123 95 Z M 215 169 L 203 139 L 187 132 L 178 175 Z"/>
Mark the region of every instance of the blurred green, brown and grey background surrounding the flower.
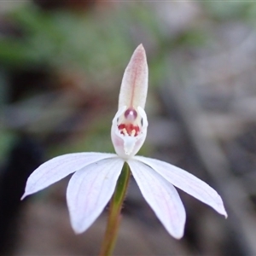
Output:
<path fill-rule="evenodd" d="M 68 178 L 20 201 L 45 160 L 113 152 L 110 127 L 131 54 L 148 55 L 140 154 L 209 183 L 229 218 L 182 191 L 169 236 L 131 180 L 115 255 L 256 255 L 256 3 L 0 2 L 0 255 L 96 255 L 108 211 L 75 236 Z"/>

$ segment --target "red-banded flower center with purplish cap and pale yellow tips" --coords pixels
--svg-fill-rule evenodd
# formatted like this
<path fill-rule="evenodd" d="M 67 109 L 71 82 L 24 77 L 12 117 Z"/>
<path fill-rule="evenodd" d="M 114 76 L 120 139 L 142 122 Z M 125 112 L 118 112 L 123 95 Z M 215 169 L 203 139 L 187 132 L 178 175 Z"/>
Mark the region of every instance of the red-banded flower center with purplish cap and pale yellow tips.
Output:
<path fill-rule="evenodd" d="M 138 135 L 140 127 L 137 125 L 137 111 L 134 108 L 125 110 L 124 119 L 118 128 L 125 136 L 136 137 Z"/>

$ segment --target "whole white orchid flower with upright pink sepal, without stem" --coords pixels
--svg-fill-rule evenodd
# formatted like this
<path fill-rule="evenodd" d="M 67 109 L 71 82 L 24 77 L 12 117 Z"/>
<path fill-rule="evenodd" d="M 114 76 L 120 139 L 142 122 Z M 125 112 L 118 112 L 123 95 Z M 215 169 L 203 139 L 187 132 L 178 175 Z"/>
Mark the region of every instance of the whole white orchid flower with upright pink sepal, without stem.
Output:
<path fill-rule="evenodd" d="M 126 161 L 143 197 L 175 238 L 183 236 L 186 213 L 174 186 L 226 217 L 223 201 L 207 183 L 164 161 L 135 156 L 147 134 L 147 90 L 147 59 L 143 45 L 139 45 L 125 69 L 119 109 L 113 118 L 111 137 L 117 154 L 90 152 L 55 157 L 32 172 L 22 199 L 74 172 L 67 186 L 67 207 L 73 230 L 82 233 L 108 204 Z"/>

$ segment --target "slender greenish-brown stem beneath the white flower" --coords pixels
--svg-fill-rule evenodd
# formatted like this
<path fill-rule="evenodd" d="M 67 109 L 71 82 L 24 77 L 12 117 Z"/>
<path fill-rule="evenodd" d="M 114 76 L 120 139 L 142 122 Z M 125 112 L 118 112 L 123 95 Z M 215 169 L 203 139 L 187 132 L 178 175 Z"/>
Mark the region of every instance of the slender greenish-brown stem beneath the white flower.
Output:
<path fill-rule="evenodd" d="M 112 200 L 109 207 L 108 225 L 105 232 L 104 240 L 102 241 L 102 249 L 100 256 L 110 256 L 113 252 L 113 247 L 117 239 L 120 223 L 120 212 L 122 209 L 123 201 L 125 200 L 125 194 L 130 179 L 130 168 L 125 162 L 123 170 L 119 176 L 115 191 L 113 193 Z"/>

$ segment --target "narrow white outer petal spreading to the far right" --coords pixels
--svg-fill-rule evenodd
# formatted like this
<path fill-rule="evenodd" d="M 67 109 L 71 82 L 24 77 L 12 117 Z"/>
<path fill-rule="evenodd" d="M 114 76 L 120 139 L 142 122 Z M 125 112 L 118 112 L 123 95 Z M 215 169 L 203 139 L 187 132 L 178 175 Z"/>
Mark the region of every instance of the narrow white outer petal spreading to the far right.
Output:
<path fill-rule="evenodd" d="M 224 209 L 224 204 L 221 197 L 214 189 L 212 189 L 207 183 L 203 182 L 198 177 L 195 177 L 191 173 L 186 172 L 177 166 L 172 166 L 164 161 L 146 158 L 143 156 L 136 156 L 135 159 L 140 160 L 146 165 L 152 167 L 174 186 L 182 189 L 189 195 L 194 196 L 196 199 L 204 202 L 218 213 L 227 217 L 227 212 Z"/>

